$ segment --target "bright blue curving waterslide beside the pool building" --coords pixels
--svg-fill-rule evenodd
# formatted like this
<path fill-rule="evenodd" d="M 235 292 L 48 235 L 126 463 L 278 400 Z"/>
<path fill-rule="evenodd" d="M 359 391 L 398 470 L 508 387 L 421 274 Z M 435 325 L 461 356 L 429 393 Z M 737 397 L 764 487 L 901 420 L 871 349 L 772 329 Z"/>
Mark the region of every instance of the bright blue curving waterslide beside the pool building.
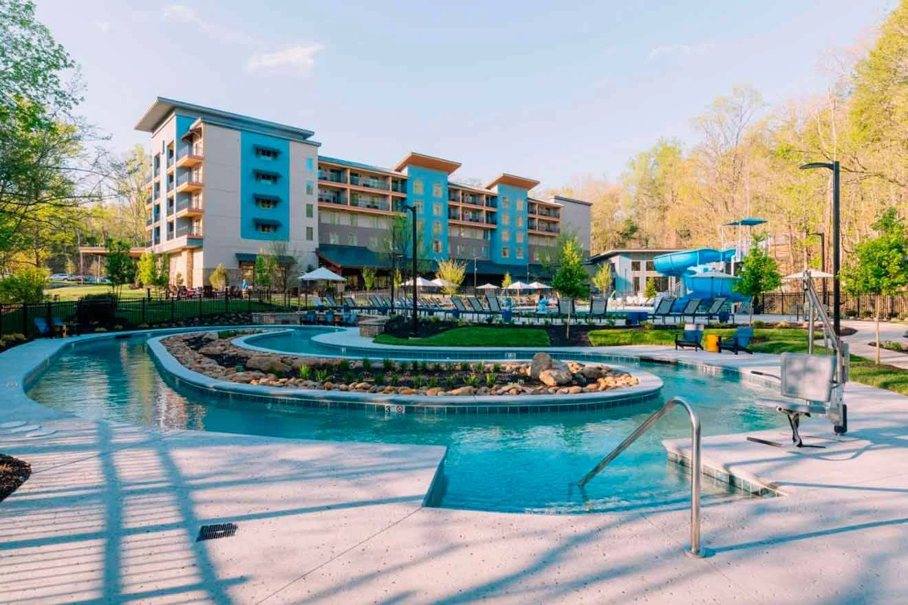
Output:
<path fill-rule="evenodd" d="M 673 307 L 673 310 L 679 310 L 691 298 L 709 300 L 725 297 L 733 302 L 748 300 L 747 297 L 735 292 L 737 278 L 714 278 L 709 277 L 709 273 L 707 273 L 712 269 L 708 266 L 709 264 L 729 262 L 734 257 L 735 249 L 700 248 L 661 254 L 653 259 L 653 264 L 659 273 L 681 278 L 684 282 L 687 294 L 678 298 Z"/>

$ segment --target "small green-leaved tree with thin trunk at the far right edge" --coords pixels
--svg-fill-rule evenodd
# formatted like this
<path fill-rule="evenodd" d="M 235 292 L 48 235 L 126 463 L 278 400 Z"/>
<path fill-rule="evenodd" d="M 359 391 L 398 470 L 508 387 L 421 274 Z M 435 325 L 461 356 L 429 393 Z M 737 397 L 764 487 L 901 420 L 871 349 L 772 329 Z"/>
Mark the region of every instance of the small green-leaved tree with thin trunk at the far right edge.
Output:
<path fill-rule="evenodd" d="M 879 364 L 880 297 L 908 286 L 908 237 L 903 220 L 894 208 L 883 211 L 872 227 L 879 235 L 857 245 L 853 261 L 844 267 L 842 279 L 846 291 L 874 295 L 876 363 Z"/>

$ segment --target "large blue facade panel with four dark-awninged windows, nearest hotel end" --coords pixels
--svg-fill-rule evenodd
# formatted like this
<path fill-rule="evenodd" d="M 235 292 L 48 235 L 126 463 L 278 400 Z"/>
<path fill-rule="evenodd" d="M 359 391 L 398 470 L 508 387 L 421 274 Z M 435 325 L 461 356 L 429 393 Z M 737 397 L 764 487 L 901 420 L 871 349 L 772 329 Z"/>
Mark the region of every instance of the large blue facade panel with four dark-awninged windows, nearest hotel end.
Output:
<path fill-rule="evenodd" d="M 277 153 L 277 157 L 260 156 L 257 150 Z M 290 239 L 290 141 L 258 134 L 240 133 L 240 237 L 264 241 Z M 274 174 L 277 182 L 260 181 L 257 175 Z M 271 208 L 256 202 L 262 199 L 278 200 Z M 273 231 L 262 231 L 262 225 L 274 225 Z"/>

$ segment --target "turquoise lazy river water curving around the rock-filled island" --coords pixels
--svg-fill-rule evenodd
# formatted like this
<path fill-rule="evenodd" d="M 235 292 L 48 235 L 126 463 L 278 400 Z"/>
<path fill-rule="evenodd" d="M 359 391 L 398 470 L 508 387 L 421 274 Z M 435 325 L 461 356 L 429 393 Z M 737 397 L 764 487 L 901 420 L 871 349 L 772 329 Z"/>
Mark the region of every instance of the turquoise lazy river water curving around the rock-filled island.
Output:
<path fill-rule="evenodd" d="M 318 347 L 312 352 L 319 352 Z M 665 381 L 666 397 L 682 395 L 696 406 L 704 434 L 781 425 L 778 415 L 753 405 L 755 397 L 773 395 L 768 389 L 693 368 L 642 367 Z M 386 416 L 361 410 L 265 408 L 175 391 L 158 373 L 144 337 L 77 346 L 57 357 L 28 395 L 86 418 L 157 428 L 448 445 L 439 505 L 450 508 L 595 512 L 683 508 L 688 498 L 689 475 L 666 461 L 661 445 L 663 439 L 689 435 L 680 410 L 656 424 L 589 483 L 585 493 L 577 490 L 577 480 L 636 428 L 656 402 L 605 412 L 529 415 Z M 707 500 L 744 497 L 704 479 Z"/>

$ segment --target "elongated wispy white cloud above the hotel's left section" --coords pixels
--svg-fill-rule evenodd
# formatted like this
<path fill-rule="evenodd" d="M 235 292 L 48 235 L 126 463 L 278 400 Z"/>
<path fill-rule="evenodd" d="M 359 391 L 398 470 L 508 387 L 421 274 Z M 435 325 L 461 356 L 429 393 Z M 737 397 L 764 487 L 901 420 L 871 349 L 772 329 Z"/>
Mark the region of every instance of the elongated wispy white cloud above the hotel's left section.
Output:
<path fill-rule="evenodd" d="M 275 44 L 256 40 L 249 34 L 214 24 L 203 19 L 192 6 L 167 5 L 163 9 L 163 19 L 175 23 L 192 24 L 202 34 L 227 44 L 239 44 L 251 49 L 252 54 L 246 60 L 249 72 L 295 73 L 308 75 L 315 64 L 315 54 L 324 48 L 319 43 L 292 44 L 275 49 Z"/>

